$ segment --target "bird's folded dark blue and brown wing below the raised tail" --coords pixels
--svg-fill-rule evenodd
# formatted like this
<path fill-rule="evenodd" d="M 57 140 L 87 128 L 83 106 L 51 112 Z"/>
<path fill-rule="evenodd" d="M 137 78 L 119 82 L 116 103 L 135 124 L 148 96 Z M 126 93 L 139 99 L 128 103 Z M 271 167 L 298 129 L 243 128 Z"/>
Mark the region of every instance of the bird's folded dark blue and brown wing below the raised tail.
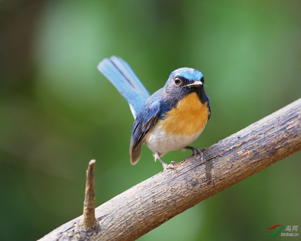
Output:
<path fill-rule="evenodd" d="M 160 101 L 156 97 L 159 91 L 145 102 L 134 121 L 130 142 L 130 160 L 133 165 L 139 161 L 143 140 L 160 115 Z"/>

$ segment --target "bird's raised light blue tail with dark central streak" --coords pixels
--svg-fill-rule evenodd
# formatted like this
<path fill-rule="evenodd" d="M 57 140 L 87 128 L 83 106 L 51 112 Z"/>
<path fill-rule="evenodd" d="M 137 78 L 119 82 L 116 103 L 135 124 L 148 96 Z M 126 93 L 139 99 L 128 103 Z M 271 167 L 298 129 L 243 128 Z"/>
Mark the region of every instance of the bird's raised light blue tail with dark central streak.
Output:
<path fill-rule="evenodd" d="M 111 56 L 103 59 L 97 68 L 127 100 L 132 114 L 136 118 L 142 106 L 150 97 L 150 93 L 129 64 L 120 57 Z"/>

